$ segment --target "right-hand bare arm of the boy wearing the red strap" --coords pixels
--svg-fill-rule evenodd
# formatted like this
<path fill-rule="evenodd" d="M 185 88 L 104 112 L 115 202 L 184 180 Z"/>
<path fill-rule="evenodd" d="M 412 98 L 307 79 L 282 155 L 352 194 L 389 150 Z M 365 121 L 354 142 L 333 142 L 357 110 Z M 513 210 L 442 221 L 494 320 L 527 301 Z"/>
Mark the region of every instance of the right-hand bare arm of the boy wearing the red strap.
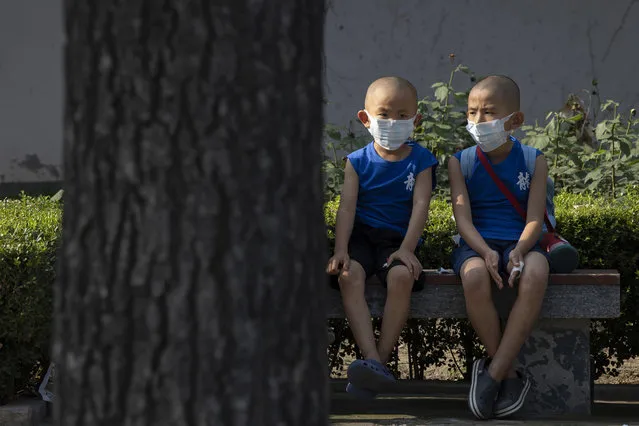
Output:
<path fill-rule="evenodd" d="M 535 174 L 530 182 L 528 192 L 528 209 L 526 212 L 526 226 L 519 237 L 516 248 L 525 255 L 539 240 L 544 212 L 546 211 L 546 180 L 548 179 L 548 164 L 546 158 L 540 155 L 535 160 Z"/>

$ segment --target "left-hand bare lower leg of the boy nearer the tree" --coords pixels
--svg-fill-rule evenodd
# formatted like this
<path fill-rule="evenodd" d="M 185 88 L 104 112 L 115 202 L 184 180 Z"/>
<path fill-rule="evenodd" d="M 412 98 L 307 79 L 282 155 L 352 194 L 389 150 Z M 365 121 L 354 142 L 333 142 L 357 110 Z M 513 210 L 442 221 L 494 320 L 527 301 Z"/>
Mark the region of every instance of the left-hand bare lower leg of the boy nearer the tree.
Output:
<path fill-rule="evenodd" d="M 348 271 L 342 272 L 339 277 L 344 312 L 353 332 L 355 342 L 364 359 L 379 361 L 380 357 L 375 346 L 371 313 L 364 296 L 365 285 L 366 272 L 364 268 L 359 262 L 351 259 Z"/>

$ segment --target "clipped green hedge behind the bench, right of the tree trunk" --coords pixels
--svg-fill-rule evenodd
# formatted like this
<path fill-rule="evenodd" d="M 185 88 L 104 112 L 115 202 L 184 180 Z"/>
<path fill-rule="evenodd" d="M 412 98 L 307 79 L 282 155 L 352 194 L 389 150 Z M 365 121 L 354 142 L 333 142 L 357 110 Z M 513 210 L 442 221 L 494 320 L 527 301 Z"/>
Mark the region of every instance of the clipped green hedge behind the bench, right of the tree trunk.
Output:
<path fill-rule="evenodd" d="M 334 226 L 338 204 L 339 199 L 326 204 L 329 229 Z M 615 375 L 624 360 L 639 356 L 639 190 L 631 188 L 615 201 L 559 194 L 555 204 L 559 231 L 579 249 L 580 267 L 617 269 L 621 273 L 621 317 L 594 322 L 591 334 L 594 377 Z M 434 199 L 425 228 L 426 243 L 420 253 L 425 267 L 451 267 L 451 236 L 455 233 L 450 203 Z M 332 231 L 328 236 L 332 244 Z M 340 324 L 333 325 L 340 328 Z M 341 337 L 335 345 L 342 347 L 342 354 L 355 353 L 348 330 Z M 466 321 L 412 320 L 402 339 L 409 346 L 410 378 L 422 378 L 426 367 L 441 365 L 444 352 L 456 351 L 457 359 L 467 361 L 481 351 Z M 334 356 L 331 363 L 334 369 L 341 367 L 341 357 Z"/>

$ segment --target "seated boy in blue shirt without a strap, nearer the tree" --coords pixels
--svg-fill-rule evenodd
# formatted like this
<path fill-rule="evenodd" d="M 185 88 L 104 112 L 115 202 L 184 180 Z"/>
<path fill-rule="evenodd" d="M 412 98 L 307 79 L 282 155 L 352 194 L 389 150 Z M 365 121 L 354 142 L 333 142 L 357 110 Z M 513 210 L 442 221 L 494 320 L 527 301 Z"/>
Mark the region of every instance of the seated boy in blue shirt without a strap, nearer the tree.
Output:
<path fill-rule="evenodd" d="M 397 344 L 422 266 L 415 250 L 428 217 L 437 160 L 409 141 L 421 119 L 417 91 L 400 77 L 375 80 L 357 117 L 373 141 L 350 155 L 337 212 L 335 253 L 327 272 L 339 274 L 344 311 L 364 357 L 348 368 L 346 390 L 374 397 L 395 381 L 386 363 Z M 379 342 L 364 298 L 366 279 L 387 288 Z"/>

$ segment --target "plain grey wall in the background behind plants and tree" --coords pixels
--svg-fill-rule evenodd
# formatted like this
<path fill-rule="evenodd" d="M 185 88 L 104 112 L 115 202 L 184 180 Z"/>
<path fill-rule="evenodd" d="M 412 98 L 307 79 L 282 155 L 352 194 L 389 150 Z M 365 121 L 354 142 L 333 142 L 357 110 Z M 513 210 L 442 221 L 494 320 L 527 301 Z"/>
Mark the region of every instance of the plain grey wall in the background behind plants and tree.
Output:
<path fill-rule="evenodd" d="M 327 0 L 327 122 L 347 124 L 386 74 L 421 95 L 455 53 L 516 79 L 529 121 L 594 77 L 639 105 L 639 1 Z M 0 180 L 57 180 L 62 157 L 62 0 L 0 0 Z M 464 83 L 466 83 L 464 81 Z"/>

